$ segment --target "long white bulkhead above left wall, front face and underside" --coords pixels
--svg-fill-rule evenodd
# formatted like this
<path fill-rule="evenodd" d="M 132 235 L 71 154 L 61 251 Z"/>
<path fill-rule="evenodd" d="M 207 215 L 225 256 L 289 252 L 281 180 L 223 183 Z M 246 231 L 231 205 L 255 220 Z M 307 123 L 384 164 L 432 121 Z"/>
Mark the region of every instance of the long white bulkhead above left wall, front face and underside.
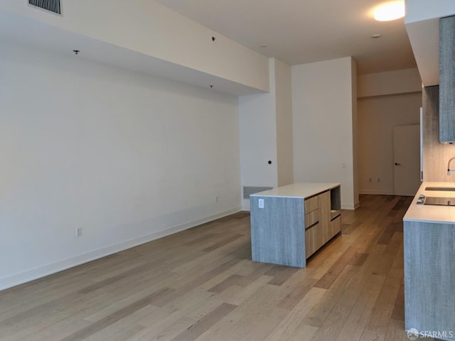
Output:
<path fill-rule="evenodd" d="M 1 1 L 0 39 L 237 96 L 269 91 L 267 57 L 155 1 L 60 0 L 61 14 L 31 1 Z"/>

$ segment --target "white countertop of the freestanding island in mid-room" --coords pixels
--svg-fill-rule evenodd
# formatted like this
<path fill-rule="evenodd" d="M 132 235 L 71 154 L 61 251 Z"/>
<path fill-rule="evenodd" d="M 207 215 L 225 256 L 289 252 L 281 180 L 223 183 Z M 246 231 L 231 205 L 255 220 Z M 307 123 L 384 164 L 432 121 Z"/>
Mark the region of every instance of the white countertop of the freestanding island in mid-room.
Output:
<path fill-rule="evenodd" d="M 339 183 L 291 183 L 282 187 L 272 188 L 272 190 L 264 190 L 250 195 L 250 197 L 311 197 L 326 190 L 338 187 Z M 454 192 L 455 195 L 455 192 Z"/>

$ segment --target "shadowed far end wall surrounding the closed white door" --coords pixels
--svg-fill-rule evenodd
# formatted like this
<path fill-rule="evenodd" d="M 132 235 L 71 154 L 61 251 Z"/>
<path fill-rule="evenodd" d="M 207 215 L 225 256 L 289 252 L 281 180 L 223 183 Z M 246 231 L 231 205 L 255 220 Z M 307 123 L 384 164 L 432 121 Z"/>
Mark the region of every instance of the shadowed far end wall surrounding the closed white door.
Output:
<path fill-rule="evenodd" d="M 394 194 L 393 127 L 419 124 L 421 85 L 417 69 L 358 76 L 360 193 Z"/>

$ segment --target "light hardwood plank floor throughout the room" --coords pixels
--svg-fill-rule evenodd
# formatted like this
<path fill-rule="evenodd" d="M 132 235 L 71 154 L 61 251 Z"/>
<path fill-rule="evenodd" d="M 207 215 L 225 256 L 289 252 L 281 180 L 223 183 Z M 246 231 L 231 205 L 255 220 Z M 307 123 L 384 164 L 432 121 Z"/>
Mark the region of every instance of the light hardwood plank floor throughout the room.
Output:
<path fill-rule="evenodd" d="M 409 340 L 411 199 L 362 195 L 306 269 L 251 261 L 240 212 L 1 291 L 0 340 Z"/>

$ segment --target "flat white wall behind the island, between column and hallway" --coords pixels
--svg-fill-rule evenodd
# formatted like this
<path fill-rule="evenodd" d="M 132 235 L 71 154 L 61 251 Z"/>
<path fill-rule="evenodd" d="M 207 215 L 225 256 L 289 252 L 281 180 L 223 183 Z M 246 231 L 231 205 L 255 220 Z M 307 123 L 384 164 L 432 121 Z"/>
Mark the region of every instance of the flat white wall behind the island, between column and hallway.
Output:
<path fill-rule="evenodd" d="M 353 209 L 353 61 L 292 67 L 294 181 L 341 183 L 341 205 Z"/>

